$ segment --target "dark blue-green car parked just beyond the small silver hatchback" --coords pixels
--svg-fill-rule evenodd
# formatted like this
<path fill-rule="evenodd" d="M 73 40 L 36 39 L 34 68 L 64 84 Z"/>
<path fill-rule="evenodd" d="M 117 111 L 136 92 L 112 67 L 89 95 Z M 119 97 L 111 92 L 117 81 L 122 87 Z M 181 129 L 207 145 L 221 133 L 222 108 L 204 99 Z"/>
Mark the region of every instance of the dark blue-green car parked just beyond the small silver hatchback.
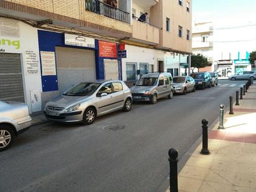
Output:
<path fill-rule="evenodd" d="M 196 88 L 211 88 L 211 75 L 208 72 L 191 73 L 190 76 L 196 81 Z"/>

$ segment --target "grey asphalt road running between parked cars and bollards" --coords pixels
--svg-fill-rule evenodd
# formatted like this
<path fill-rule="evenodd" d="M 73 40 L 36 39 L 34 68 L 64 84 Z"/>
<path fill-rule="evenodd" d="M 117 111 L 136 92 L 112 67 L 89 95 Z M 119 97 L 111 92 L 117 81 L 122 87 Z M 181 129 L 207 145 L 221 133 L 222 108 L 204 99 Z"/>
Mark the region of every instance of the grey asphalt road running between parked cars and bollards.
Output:
<path fill-rule="evenodd" d="M 179 158 L 244 81 L 219 81 L 195 93 L 134 104 L 91 126 L 31 127 L 0 153 L 0 191 L 156 191 L 168 176 L 168 149 Z M 122 130 L 104 130 L 111 124 Z"/>

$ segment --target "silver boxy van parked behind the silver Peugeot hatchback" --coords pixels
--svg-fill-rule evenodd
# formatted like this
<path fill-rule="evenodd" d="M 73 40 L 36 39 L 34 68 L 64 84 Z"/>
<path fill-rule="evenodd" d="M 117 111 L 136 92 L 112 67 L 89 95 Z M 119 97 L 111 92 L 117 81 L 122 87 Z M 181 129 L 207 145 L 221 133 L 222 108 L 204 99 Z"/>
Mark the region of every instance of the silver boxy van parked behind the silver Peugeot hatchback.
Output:
<path fill-rule="evenodd" d="M 165 96 L 173 98 L 173 80 L 171 73 L 148 73 L 142 75 L 139 81 L 130 88 L 133 101 L 150 101 L 157 103 L 157 99 Z"/>

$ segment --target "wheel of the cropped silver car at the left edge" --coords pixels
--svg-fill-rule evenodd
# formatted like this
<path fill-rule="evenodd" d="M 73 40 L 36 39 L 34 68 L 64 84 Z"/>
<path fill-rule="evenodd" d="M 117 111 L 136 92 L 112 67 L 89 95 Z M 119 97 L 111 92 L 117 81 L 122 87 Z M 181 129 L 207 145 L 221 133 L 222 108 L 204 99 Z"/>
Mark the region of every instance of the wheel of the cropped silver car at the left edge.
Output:
<path fill-rule="evenodd" d="M 0 152 L 10 147 L 13 140 L 14 131 L 11 129 L 11 127 L 6 125 L 0 126 Z"/>

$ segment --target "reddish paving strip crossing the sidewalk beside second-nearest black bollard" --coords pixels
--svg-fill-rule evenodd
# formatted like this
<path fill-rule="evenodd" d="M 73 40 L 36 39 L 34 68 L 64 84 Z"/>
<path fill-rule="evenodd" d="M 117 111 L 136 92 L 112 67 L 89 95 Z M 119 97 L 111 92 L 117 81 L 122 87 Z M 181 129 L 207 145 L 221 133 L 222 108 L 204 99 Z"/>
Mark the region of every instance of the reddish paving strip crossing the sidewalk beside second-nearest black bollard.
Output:
<path fill-rule="evenodd" d="M 209 139 L 229 140 L 234 142 L 244 142 L 256 144 L 256 134 L 248 134 L 243 132 L 232 132 L 224 130 L 211 130 L 208 134 Z"/>

